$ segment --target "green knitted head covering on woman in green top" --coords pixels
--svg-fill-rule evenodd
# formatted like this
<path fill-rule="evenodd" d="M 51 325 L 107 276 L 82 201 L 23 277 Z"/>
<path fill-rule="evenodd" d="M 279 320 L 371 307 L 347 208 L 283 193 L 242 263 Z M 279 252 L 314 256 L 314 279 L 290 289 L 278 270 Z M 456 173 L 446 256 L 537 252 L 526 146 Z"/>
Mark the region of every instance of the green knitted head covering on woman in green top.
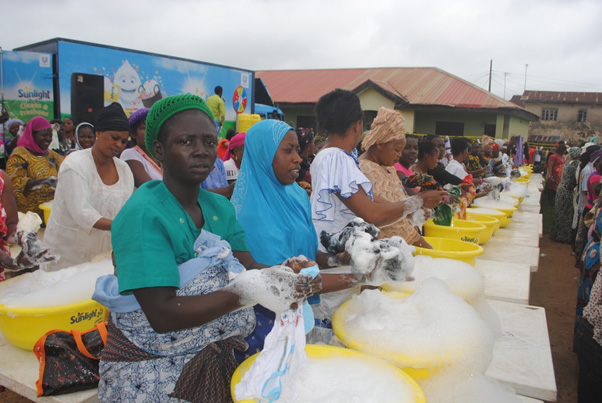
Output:
<path fill-rule="evenodd" d="M 181 94 L 163 98 L 157 101 L 146 117 L 146 135 L 144 143 L 146 149 L 154 157 L 153 141 L 157 138 L 161 126 L 173 115 L 189 109 L 198 109 L 214 120 L 213 114 L 203 99 L 197 95 Z"/>

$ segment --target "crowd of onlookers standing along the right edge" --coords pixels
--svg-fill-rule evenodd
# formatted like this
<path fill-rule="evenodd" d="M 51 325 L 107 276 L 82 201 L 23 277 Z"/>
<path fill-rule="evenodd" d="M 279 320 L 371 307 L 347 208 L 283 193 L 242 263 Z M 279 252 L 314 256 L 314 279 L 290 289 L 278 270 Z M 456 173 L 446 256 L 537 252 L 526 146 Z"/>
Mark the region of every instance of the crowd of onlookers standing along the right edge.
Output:
<path fill-rule="evenodd" d="M 542 206 L 554 208 L 550 239 L 570 244 L 579 269 L 574 351 L 579 359 L 579 401 L 602 398 L 602 148 L 563 141 L 543 161 Z"/>

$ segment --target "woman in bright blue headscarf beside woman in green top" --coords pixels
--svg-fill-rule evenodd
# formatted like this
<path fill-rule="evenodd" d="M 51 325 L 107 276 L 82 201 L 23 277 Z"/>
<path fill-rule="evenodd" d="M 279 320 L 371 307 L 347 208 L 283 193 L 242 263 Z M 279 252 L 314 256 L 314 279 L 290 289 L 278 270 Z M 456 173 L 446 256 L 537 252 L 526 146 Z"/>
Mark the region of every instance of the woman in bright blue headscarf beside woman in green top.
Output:
<path fill-rule="evenodd" d="M 301 163 L 298 152 L 297 135 L 286 123 L 268 119 L 253 125 L 245 138 L 245 156 L 232 204 L 245 229 L 249 251 L 258 262 L 276 265 L 304 255 L 327 267 L 326 254 L 317 252 L 318 237 L 307 192 L 295 182 Z M 322 292 L 356 284 L 358 280 L 351 274 L 322 273 Z M 263 348 L 274 320 L 273 312 L 261 306 L 255 307 L 255 314 L 257 327 L 247 337 L 248 355 Z"/>

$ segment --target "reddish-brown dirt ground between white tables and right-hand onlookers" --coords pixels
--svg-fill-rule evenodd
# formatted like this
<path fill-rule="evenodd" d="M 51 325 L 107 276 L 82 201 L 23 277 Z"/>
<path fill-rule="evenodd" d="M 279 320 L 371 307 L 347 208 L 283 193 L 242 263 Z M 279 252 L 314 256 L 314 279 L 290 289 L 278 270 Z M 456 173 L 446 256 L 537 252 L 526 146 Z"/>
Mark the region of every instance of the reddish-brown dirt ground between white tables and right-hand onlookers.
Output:
<path fill-rule="evenodd" d="M 531 275 L 530 304 L 546 309 L 552 359 L 559 403 L 577 402 L 577 356 L 572 350 L 573 323 L 577 297 L 577 269 L 569 245 L 540 240 L 539 270 Z M 9 390 L 0 402 L 29 402 Z"/>

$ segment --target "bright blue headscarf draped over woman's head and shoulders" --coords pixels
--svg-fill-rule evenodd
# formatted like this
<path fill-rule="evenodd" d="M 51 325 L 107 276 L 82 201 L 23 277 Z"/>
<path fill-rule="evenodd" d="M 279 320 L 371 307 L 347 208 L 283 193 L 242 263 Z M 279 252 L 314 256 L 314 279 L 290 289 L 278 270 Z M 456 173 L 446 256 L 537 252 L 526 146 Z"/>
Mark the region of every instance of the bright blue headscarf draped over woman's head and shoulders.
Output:
<path fill-rule="evenodd" d="M 307 192 L 297 183 L 282 185 L 272 168 L 276 150 L 291 130 L 284 122 L 268 119 L 247 131 L 245 155 L 232 195 L 250 252 L 267 265 L 297 255 L 315 259 L 318 249 Z"/>

